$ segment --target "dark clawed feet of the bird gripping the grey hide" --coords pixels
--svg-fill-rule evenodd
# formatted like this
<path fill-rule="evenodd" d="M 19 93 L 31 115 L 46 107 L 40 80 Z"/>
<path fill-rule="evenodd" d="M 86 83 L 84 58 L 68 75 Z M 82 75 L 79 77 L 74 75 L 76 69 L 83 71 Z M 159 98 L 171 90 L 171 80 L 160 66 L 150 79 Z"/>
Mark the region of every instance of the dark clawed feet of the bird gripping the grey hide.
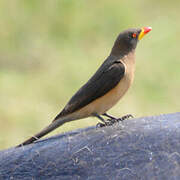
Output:
<path fill-rule="evenodd" d="M 104 123 L 98 123 L 96 125 L 97 128 L 101 128 L 101 127 L 105 127 L 105 126 L 111 126 L 113 125 L 114 123 L 117 123 L 119 121 L 124 121 L 126 119 L 129 119 L 129 118 L 133 118 L 133 116 L 131 114 L 127 114 L 125 116 L 122 116 L 121 118 L 118 118 L 118 119 L 115 119 L 115 118 L 110 118 L 110 119 L 107 119 Z"/>

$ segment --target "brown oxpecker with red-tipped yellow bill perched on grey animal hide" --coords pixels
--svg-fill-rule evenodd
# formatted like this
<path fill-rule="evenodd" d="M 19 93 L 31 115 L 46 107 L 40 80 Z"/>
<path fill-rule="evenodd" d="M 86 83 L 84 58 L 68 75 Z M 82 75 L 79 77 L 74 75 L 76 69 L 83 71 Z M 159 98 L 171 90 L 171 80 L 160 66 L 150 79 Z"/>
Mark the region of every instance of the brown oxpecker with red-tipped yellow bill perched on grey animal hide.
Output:
<path fill-rule="evenodd" d="M 72 96 L 51 124 L 17 147 L 31 144 L 59 126 L 78 119 L 97 117 L 101 120 L 102 126 L 112 124 L 115 118 L 107 111 L 124 96 L 132 85 L 136 46 L 151 30 L 151 27 L 143 27 L 122 31 L 115 40 L 109 56 L 87 83 Z M 103 116 L 110 119 L 105 120 Z"/>

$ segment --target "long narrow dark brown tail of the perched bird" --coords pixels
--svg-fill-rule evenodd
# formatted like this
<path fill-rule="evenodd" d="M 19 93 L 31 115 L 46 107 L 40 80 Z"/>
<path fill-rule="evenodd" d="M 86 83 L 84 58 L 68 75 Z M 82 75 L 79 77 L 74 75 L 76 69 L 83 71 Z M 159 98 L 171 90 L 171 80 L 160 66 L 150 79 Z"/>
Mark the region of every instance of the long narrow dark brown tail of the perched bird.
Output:
<path fill-rule="evenodd" d="M 16 147 L 21 147 L 21 146 L 33 143 L 34 141 L 40 139 L 41 137 L 45 136 L 46 134 L 48 134 L 49 132 L 53 131 L 54 129 L 56 129 L 57 127 L 63 125 L 66 122 L 67 122 L 66 118 L 56 119 L 49 126 L 44 128 L 42 131 L 40 131 L 39 133 L 35 134 L 34 136 L 32 136 L 31 138 L 27 139 L 26 141 L 24 141 L 23 143 L 19 144 Z"/>

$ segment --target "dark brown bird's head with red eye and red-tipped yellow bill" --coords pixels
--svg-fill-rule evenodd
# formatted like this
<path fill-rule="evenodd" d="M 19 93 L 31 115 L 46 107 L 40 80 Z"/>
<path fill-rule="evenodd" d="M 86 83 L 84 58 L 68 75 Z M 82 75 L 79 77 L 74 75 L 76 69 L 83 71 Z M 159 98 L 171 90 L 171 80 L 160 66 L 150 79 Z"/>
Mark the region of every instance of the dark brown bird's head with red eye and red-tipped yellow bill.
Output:
<path fill-rule="evenodd" d="M 128 29 L 121 32 L 114 43 L 111 54 L 115 56 L 128 54 L 136 48 L 138 41 L 151 31 L 151 29 L 151 27 L 144 27 L 141 29 Z"/>

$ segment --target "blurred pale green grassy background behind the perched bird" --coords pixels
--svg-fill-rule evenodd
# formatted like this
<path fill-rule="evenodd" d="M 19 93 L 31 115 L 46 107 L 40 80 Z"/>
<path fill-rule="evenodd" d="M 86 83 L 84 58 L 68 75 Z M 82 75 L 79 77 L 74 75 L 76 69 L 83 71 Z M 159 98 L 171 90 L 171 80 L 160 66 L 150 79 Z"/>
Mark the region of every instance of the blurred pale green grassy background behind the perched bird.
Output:
<path fill-rule="evenodd" d="M 48 125 L 130 27 L 153 30 L 138 45 L 133 86 L 110 113 L 179 111 L 179 9 L 179 0 L 0 1 L 0 148 Z M 50 135 L 96 123 L 75 121 Z"/>

